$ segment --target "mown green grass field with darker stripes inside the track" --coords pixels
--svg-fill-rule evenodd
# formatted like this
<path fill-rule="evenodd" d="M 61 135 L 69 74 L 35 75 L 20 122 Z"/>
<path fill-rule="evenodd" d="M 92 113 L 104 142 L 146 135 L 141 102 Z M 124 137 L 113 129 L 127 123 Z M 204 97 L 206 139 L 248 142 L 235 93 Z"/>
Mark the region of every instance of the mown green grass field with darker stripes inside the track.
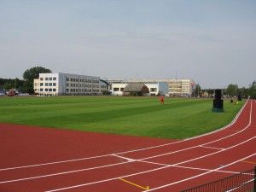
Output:
<path fill-rule="evenodd" d="M 124 96 L 0 97 L 0 122 L 142 137 L 187 138 L 229 124 L 239 105 L 224 101 L 212 113 L 212 99 Z"/>

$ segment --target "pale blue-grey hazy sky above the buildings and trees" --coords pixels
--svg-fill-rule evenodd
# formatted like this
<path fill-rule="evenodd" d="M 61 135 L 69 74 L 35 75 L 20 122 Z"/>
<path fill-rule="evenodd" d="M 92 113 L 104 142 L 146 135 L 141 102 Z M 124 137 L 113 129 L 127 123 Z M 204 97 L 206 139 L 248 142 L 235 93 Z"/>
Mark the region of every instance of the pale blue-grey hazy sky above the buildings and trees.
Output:
<path fill-rule="evenodd" d="M 256 80 L 255 0 L 0 0 L 0 78 Z"/>

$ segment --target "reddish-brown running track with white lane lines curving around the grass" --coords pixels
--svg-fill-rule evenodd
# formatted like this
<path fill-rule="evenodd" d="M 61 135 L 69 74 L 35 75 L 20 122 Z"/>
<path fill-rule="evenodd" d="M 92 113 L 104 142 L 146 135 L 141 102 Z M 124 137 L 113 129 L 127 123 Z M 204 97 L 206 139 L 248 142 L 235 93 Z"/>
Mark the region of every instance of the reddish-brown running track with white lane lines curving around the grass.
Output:
<path fill-rule="evenodd" d="M 188 140 L 0 124 L 0 191 L 175 192 L 229 177 L 256 166 L 255 114 L 248 100 L 230 125 Z"/>

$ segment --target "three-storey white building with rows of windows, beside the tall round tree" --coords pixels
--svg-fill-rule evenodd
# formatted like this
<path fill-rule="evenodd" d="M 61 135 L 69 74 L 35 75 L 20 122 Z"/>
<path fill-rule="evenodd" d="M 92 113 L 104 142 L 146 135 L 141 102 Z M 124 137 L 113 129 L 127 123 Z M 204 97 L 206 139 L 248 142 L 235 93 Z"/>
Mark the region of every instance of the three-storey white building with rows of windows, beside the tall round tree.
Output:
<path fill-rule="evenodd" d="M 39 95 L 83 96 L 100 95 L 108 85 L 99 77 L 69 73 L 40 73 L 34 79 L 34 91 Z"/>

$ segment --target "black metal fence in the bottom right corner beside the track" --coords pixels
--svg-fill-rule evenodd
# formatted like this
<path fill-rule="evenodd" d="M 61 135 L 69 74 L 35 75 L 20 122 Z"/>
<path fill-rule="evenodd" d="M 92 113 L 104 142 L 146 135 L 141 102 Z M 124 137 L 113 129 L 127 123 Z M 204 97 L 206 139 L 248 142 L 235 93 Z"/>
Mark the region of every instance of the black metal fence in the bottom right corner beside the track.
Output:
<path fill-rule="evenodd" d="M 256 192 L 256 166 L 247 172 L 225 177 L 212 183 L 181 192 Z"/>

